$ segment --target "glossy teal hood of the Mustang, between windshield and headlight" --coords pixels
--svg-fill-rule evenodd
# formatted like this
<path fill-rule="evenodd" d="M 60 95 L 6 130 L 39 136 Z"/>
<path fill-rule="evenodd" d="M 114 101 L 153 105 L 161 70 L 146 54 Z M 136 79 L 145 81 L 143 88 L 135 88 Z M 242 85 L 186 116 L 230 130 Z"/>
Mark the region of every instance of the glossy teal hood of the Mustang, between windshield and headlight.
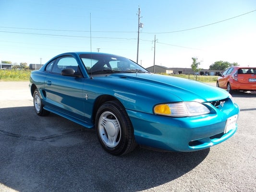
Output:
<path fill-rule="evenodd" d="M 179 101 L 180 99 L 180 101 L 211 102 L 230 96 L 218 87 L 168 75 L 115 73 L 108 77 L 111 77 L 110 79 L 115 81 L 115 84 L 119 82 L 121 86 L 128 88 L 129 91 L 134 90 L 137 94 L 144 95 L 155 94 L 155 98 L 160 96 L 164 102 L 165 100 L 170 101 L 170 98 L 173 101 Z M 119 80 L 116 81 L 116 78 Z"/>

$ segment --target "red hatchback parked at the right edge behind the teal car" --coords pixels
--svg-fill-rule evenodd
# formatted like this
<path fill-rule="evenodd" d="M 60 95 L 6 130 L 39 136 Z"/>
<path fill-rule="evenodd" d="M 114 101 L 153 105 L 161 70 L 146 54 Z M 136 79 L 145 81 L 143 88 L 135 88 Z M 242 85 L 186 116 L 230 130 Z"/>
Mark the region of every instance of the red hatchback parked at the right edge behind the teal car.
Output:
<path fill-rule="evenodd" d="M 256 91 L 256 67 L 233 66 L 222 72 L 217 87 L 232 91 Z"/>

